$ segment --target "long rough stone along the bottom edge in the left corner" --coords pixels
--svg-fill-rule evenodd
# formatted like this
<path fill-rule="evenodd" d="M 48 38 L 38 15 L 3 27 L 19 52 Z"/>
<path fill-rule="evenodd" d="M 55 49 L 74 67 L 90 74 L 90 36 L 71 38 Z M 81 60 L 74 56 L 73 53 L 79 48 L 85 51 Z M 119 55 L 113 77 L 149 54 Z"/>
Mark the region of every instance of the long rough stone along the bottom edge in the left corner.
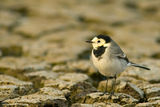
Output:
<path fill-rule="evenodd" d="M 66 98 L 62 95 L 60 90 L 54 90 L 51 88 L 43 88 L 40 92 L 21 96 L 14 99 L 8 99 L 2 102 L 5 107 L 10 106 L 58 106 L 58 107 L 68 107 Z"/>

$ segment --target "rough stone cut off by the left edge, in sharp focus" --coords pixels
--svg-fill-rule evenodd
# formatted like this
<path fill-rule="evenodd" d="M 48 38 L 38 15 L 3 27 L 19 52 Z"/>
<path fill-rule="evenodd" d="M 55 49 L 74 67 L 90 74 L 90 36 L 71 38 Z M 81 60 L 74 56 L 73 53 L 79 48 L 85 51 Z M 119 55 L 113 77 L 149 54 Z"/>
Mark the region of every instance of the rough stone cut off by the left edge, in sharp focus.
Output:
<path fill-rule="evenodd" d="M 0 101 L 34 92 L 33 84 L 8 75 L 0 75 Z"/>

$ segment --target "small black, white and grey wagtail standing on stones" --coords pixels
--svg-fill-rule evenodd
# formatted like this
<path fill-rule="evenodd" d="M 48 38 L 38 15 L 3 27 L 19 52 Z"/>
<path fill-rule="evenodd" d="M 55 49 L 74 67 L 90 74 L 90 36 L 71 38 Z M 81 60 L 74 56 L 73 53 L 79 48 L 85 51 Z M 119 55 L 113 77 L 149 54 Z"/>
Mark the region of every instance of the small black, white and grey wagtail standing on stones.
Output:
<path fill-rule="evenodd" d="M 123 72 L 128 66 L 134 66 L 150 70 L 145 66 L 138 65 L 129 61 L 126 54 L 109 36 L 98 35 L 92 40 L 86 42 L 91 43 L 93 46 L 91 57 L 93 65 L 103 76 L 106 77 L 107 80 L 106 89 L 103 94 L 106 93 L 108 79 L 114 78 L 116 82 L 117 75 Z M 115 84 L 112 84 L 111 94 L 114 94 L 114 85 Z"/>

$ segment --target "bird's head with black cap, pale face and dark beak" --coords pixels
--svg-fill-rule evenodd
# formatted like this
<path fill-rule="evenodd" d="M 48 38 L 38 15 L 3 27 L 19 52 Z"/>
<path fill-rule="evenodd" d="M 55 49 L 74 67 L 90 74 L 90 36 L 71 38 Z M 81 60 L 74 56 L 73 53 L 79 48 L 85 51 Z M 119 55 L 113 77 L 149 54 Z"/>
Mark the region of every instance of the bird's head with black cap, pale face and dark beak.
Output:
<path fill-rule="evenodd" d="M 94 37 L 92 40 L 86 41 L 87 43 L 91 43 L 94 49 L 98 49 L 99 47 L 108 47 L 111 42 L 111 38 L 106 35 L 98 35 Z"/>

